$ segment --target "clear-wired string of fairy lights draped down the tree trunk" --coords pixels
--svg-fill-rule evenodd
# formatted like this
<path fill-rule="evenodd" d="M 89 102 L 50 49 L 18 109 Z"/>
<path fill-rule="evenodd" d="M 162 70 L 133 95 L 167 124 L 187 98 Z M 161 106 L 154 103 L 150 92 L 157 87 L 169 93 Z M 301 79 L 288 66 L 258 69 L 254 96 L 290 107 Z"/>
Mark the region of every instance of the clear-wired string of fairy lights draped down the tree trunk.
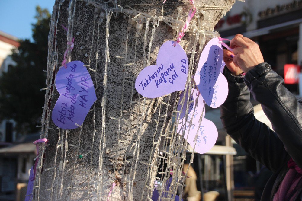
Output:
<path fill-rule="evenodd" d="M 59 29 L 58 21 L 60 17 L 61 6 L 63 5 L 65 1 L 64 0 L 56 0 L 55 5 L 53 7 L 53 13 L 51 17 L 50 22 L 50 33 L 49 33 L 49 39 L 48 39 L 48 45 L 49 45 L 49 53 L 47 57 L 47 80 L 46 85 L 47 87 L 44 88 L 46 90 L 45 95 L 45 102 L 43 107 L 43 113 L 42 113 L 42 119 L 41 119 L 41 138 L 47 138 L 49 132 L 52 132 L 52 128 L 50 128 L 50 116 L 51 116 L 51 110 L 49 108 L 50 101 L 53 100 L 53 97 L 56 96 L 56 89 L 55 85 L 53 84 L 53 78 L 55 76 L 54 72 L 57 72 L 59 69 L 60 61 L 59 56 L 60 53 L 58 52 L 58 42 L 57 42 L 57 34 L 55 34 L 56 30 Z M 100 32 L 105 32 L 105 46 L 104 48 L 104 65 L 102 68 L 104 68 L 104 80 L 103 80 L 103 94 L 102 97 L 98 97 L 97 101 L 101 102 L 101 114 L 102 114 L 102 121 L 101 121 L 101 130 L 96 130 L 95 126 L 95 112 L 96 112 L 96 103 L 92 106 L 90 112 L 93 113 L 92 120 L 89 122 L 89 127 L 92 127 L 92 144 L 90 145 L 91 149 L 88 153 L 85 153 L 85 156 L 89 156 L 90 158 L 90 166 L 88 167 L 88 191 L 87 193 L 87 199 L 91 199 L 91 192 L 89 190 L 89 186 L 91 181 L 91 175 L 93 173 L 94 167 L 93 167 L 93 147 L 95 143 L 95 136 L 98 133 L 100 135 L 99 138 L 99 150 L 98 150 L 98 174 L 97 174 L 97 189 L 96 189 L 96 197 L 98 200 L 107 199 L 107 194 L 104 194 L 103 189 L 103 182 L 104 178 L 102 177 L 101 173 L 103 171 L 103 155 L 104 153 L 109 153 L 110 150 L 106 149 L 106 105 L 107 105 L 107 96 L 108 96 L 108 89 L 107 89 L 107 73 L 108 73 L 108 65 L 110 65 L 110 56 L 113 56 L 114 53 L 110 54 L 110 44 L 108 43 L 108 39 L 110 37 L 109 35 L 109 27 L 110 27 L 110 21 L 112 16 L 117 17 L 118 14 L 122 14 L 124 18 L 128 18 L 128 27 L 125 30 L 126 34 L 126 41 L 124 41 L 124 55 L 114 55 L 117 59 L 123 59 L 124 63 L 124 73 L 122 78 L 122 84 L 121 84 L 121 100 L 120 100 L 120 113 L 117 115 L 117 117 L 110 117 L 112 120 L 117 121 L 118 125 L 118 132 L 117 132 L 117 149 L 120 147 L 125 147 L 123 149 L 124 152 L 124 160 L 122 163 L 122 169 L 117 169 L 117 164 L 119 161 L 117 161 L 117 158 L 115 157 L 114 162 L 114 171 L 112 178 L 110 181 L 115 181 L 115 172 L 120 171 L 121 178 L 124 179 L 124 181 L 127 182 L 127 200 L 132 200 L 132 193 L 133 193 L 133 183 L 135 181 L 135 175 L 137 171 L 137 167 L 139 164 L 146 165 L 147 169 L 147 175 L 145 180 L 145 185 L 143 187 L 143 192 L 141 196 L 141 200 L 151 200 L 153 190 L 154 190 L 154 183 L 159 182 L 161 185 L 156 187 L 156 189 L 159 192 L 159 199 L 162 200 L 174 200 L 176 196 L 176 191 L 178 187 L 181 187 L 182 191 L 180 196 L 182 196 L 183 188 L 184 188 L 184 180 L 187 176 L 187 171 L 185 171 L 185 175 L 182 175 L 182 168 L 183 164 L 186 160 L 186 151 L 187 151 L 187 140 L 184 139 L 181 135 L 176 133 L 177 126 L 179 123 L 179 111 L 177 111 L 177 102 L 180 101 L 182 103 L 182 107 L 186 107 L 185 112 L 185 123 L 188 125 L 189 129 L 192 125 L 191 118 L 190 121 L 188 121 L 188 105 L 191 103 L 187 101 L 187 105 L 184 105 L 185 102 L 185 96 L 183 96 L 182 100 L 179 99 L 179 93 L 172 93 L 168 94 L 164 97 L 160 97 L 157 100 L 158 107 L 156 108 L 157 116 L 153 119 L 156 122 L 156 127 L 153 134 L 152 139 L 152 149 L 149 154 L 148 162 L 143 162 L 140 160 L 139 155 L 140 152 L 140 142 L 143 138 L 143 122 L 146 113 L 146 107 L 147 105 L 154 101 L 149 98 L 140 97 L 137 101 L 132 101 L 129 105 L 130 108 L 130 114 L 135 113 L 133 111 L 134 107 L 137 107 L 137 121 L 135 126 L 135 135 L 136 139 L 134 141 L 128 140 L 128 137 L 126 140 L 121 139 L 120 135 L 122 132 L 121 130 L 121 121 L 127 123 L 128 129 L 127 129 L 127 136 L 130 135 L 130 127 L 133 125 L 131 122 L 133 122 L 132 116 L 129 116 L 129 119 L 124 118 L 124 107 L 125 107 L 125 101 L 123 99 L 125 90 L 124 86 L 127 84 L 131 87 L 131 100 L 134 96 L 135 89 L 134 89 L 134 81 L 135 76 L 128 75 L 127 68 L 131 65 L 136 66 L 137 64 L 137 54 L 140 52 L 137 52 L 137 38 L 140 37 L 140 35 L 143 36 L 143 65 L 148 66 L 150 65 L 151 60 L 151 51 L 152 51 L 152 44 L 153 39 L 156 35 L 156 28 L 159 26 L 170 26 L 176 33 L 182 29 L 182 27 L 185 24 L 185 19 L 188 14 L 189 9 L 191 8 L 191 5 L 183 5 L 183 4 L 160 4 L 160 5 L 152 5 L 152 4 L 128 4 L 124 7 L 117 4 L 117 1 L 110 0 L 108 2 L 100 2 L 96 0 L 80 0 L 78 2 L 85 2 L 86 5 L 93 5 L 94 6 L 94 20 L 92 25 L 92 41 L 89 44 L 89 52 L 83 53 L 85 57 L 88 58 L 88 63 L 85 65 L 88 68 L 89 73 L 94 73 L 95 76 L 95 88 L 98 88 L 98 85 L 100 85 L 99 80 L 97 80 L 97 64 L 99 59 L 99 43 L 100 43 Z M 73 33 L 73 25 L 75 21 L 75 11 L 77 8 L 77 1 L 76 0 L 70 0 L 68 6 L 68 31 L 67 31 L 67 40 L 71 41 L 72 37 L 74 35 Z M 234 2 L 230 5 L 223 5 L 223 6 L 198 6 L 197 11 L 195 14 L 195 18 L 191 21 L 191 23 L 188 26 L 188 30 L 185 34 L 188 34 L 188 48 L 186 50 L 187 55 L 190 55 L 189 58 L 189 73 L 188 73 L 188 81 L 185 85 L 185 91 L 188 93 L 188 96 L 191 94 L 192 89 L 195 87 L 194 82 L 191 80 L 191 77 L 194 73 L 194 66 L 196 62 L 199 59 L 201 50 L 203 49 L 204 44 L 208 39 L 211 39 L 213 37 L 219 37 L 219 33 L 213 32 L 211 30 L 210 21 L 212 20 L 210 16 L 206 15 L 207 10 L 217 10 L 220 12 L 220 17 L 224 16 L 228 10 L 232 7 Z M 159 16 L 152 16 L 147 13 L 143 13 L 141 11 L 133 9 L 135 6 L 157 6 L 159 8 L 162 8 L 161 15 Z M 170 14 L 165 16 L 164 15 L 164 7 L 165 6 L 174 6 L 176 7 L 176 12 L 174 14 Z M 201 15 L 203 16 L 203 20 L 201 20 Z M 103 25 L 103 22 L 105 21 L 105 25 Z M 151 25 L 151 27 L 150 27 Z M 97 33 L 95 33 L 95 26 L 97 26 Z M 132 33 L 131 29 L 132 27 L 135 27 L 136 32 Z M 142 33 L 144 30 L 144 33 Z M 151 30 L 151 35 L 148 38 L 147 35 L 149 34 Z M 78 35 L 78 33 L 76 33 Z M 95 35 L 97 34 L 97 39 L 95 40 Z M 128 50 L 128 36 L 130 34 L 135 34 L 136 42 L 134 44 L 134 52 L 129 52 Z M 97 43 L 97 48 L 93 49 L 93 45 Z M 198 48 L 199 45 L 199 48 Z M 70 45 L 67 46 L 69 48 Z M 83 49 L 82 47 L 80 48 Z M 198 52 L 196 50 L 198 49 Z M 129 63 L 128 56 L 133 55 L 132 61 Z M 91 58 L 95 57 L 95 65 L 92 66 Z M 69 49 L 67 53 L 67 62 L 72 61 L 72 54 L 71 50 Z M 177 100 L 177 101 L 175 101 Z M 196 101 L 197 103 L 198 101 Z M 172 122 L 171 114 L 169 114 L 169 108 L 173 108 L 172 110 L 172 118 L 175 118 L 175 123 Z M 194 105 L 194 111 L 196 109 L 196 104 Z M 182 110 L 182 109 L 181 109 Z M 203 111 L 204 112 L 204 109 Z M 201 123 L 202 115 L 199 120 L 199 124 Z M 37 173 L 34 181 L 34 198 L 36 200 L 39 200 L 40 198 L 47 197 L 50 200 L 61 200 L 62 195 L 65 191 L 68 192 L 68 198 L 70 199 L 71 194 L 73 193 L 73 185 L 75 185 L 74 176 L 72 177 L 72 181 L 70 181 L 69 186 L 63 185 L 63 178 L 66 173 L 69 174 L 76 174 L 76 164 L 78 161 L 78 155 L 79 155 L 79 148 L 81 147 L 81 136 L 83 132 L 83 125 L 79 125 L 79 143 L 77 145 L 72 145 L 71 143 L 67 142 L 67 136 L 70 130 L 64 130 L 57 128 L 57 135 L 58 135 L 58 141 L 56 142 L 56 153 L 53 158 L 53 166 L 47 167 L 43 169 L 43 173 L 47 172 L 47 174 L 52 175 L 52 180 L 50 182 L 50 186 L 47 188 L 47 192 L 49 192 L 49 196 L 42 195 L 40 193 L 40 185 L 41 180 L 43 179 L 42 174 L 42 168 L 43 168 L 43 155 L 45 152 L 47 152 L 47 145 L 44 143 L 41 143 L 39 145 L 39 156 L 37 158 L 38 165 L 37 165 Z M 184 132 L 184 131 L 183 131 Z M 158 135 L 159 134 L 159 135 Z M 184 133 L 182 133 L 184 135 Z M 157 138 L 159 136 L 159 138 Z M 195 142 L 197 139 L 198 133 L 196 133 L 195 136 Z M 133 158 L 131 160 L 127 160 L 126 153 L 130 152 L 130 150 L 127 149 L 128 145 L 133 144 L 134 149 L 132 150 Z M 195 143 L 196 144 L 196 143 Z M 122 146 L 123 145 L 123 146 Z M 67 158 L 67 153 L 70 151 L 70 148 L 74 148 L 74 152 L 76 152 L 74 158 Z M 193 147 L 193 153 L 191 155 L 189 165 L 193 162 L 194 157 L 194 148 Z M 58 158 L 60 161 L 58 161 Z M 71 163 L 71 168 L 68 168 L 66 170 L 66 163 Z M 164 169 L 163 163 L 167 164 L 167 167 Z M 131 164 L 129 174 L 125 174 L 125 166 L 126 164 Z M 161 177 L 156 177 L 157 173 L 161 174 Z M 170 174 L 173 173 L 173 179 L 172 183 L 170 185 L 170 188 L 168 192 L 166 192 L 167 187 L 167 180 L 169 179 Z M 100 176 L 101 175 L 101 176 Z M 106 189 L 108 192 L 109 189 Z M 163 194 L 165 192 L 165 194 Z M 162 196 L 165 197 L 162 197 Z"/>

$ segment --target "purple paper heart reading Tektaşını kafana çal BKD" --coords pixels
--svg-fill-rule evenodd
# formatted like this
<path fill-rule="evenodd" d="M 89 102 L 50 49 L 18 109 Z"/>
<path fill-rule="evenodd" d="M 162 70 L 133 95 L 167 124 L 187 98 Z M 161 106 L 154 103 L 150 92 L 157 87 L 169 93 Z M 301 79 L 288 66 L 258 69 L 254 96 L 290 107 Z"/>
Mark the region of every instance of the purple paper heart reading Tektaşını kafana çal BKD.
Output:
<path fill-rule="evenodd" d="M 157 98 L 185 89 L 188 57 L 178 43 L 167 41 L 159 48 L 156 65 L 144 68 L 137 76 L 135 88 L 147 98 Z"/>

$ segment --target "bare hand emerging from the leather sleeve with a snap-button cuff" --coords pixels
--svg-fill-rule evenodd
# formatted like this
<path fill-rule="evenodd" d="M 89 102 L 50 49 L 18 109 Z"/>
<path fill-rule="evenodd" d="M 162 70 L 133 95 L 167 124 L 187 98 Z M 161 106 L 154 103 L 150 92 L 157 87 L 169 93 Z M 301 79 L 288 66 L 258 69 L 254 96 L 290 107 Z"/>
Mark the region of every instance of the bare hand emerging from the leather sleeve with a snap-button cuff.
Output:
<path fill-rule="evenodd" d="M 245 73 L 264 62 L 258 44 L 241 34 L 237 34 L 231 40 L 230 47 L 233 48 L 235 55 L 233 62 L 237 63 Z"/>

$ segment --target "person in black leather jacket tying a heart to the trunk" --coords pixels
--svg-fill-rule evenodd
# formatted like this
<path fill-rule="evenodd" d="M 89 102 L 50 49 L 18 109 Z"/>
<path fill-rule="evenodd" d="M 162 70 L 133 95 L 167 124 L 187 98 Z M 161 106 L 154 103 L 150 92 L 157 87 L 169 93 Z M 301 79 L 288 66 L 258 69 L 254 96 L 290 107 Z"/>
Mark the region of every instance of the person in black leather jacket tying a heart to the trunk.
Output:
<path fill-rule="evenodd" d="M 261 200 L 302 200 L 302 99 L 284 87 L 284 80 L 264 62 L 259 46 L 237 34 L 223 50 L 229 94 L 221 105 L 226 132 L 274 174 Z M 250 93 L 271 121 L 274 131 L 254 116 Z"/>

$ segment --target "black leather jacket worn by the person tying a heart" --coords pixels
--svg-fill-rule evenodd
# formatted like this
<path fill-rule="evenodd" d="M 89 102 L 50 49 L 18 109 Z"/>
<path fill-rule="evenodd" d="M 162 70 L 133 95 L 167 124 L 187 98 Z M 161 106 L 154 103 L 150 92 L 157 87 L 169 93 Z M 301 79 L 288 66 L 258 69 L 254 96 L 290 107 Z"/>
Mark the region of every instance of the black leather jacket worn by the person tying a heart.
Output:
<path fill-rule="evenodd" d="M 261 198 L 272 200 L 288 171 L 288 160 L 293 158 L 302 168 L 301 101 L 284 87 L 283 78 L 266 62 L 243 77 L 233 76 L 226 67 L 223 74 L 229 84 L 229 94 L 220 107 L 223 126 L 249 155 L 274 173 Z M 261 104 L 275 132 L 255 118 L 250 92 Z M 298 185 L 301 192 L 302 182 Z M 296 200 L 301 200 L 300 194 Z"/>

